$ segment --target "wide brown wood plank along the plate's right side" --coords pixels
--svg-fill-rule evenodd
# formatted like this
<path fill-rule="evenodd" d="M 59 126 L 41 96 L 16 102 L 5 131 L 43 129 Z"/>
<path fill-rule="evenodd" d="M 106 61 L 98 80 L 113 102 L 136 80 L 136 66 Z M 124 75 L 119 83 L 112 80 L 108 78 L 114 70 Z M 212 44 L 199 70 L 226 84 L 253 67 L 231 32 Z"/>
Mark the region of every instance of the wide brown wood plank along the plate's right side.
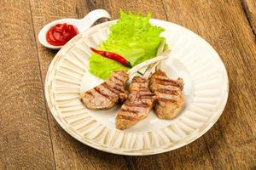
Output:
<path fill-rule="evenodd" d="M 256 164 L 256 46 L 239 1 L 164 0 L 168 20 L 197 32 L 217 49 L 228 70 L 230 96 L 223 116 L 204 135 L 217 169 Z"/>

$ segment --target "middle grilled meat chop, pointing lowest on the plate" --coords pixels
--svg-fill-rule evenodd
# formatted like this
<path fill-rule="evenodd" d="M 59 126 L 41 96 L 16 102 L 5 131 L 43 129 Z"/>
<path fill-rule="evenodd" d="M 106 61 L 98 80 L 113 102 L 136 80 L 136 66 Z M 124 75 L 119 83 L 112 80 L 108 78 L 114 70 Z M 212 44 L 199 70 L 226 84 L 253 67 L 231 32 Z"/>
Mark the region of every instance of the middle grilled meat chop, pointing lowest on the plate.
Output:
<path fill-rule="evenodd" d="M 128 99 L 116 116 L 115 126 L 118 129 L 131 127 L 147 117 L 154 104 L 155 95 L 148 88 L 148 79 L 134 77 L 129 92 Z"/>

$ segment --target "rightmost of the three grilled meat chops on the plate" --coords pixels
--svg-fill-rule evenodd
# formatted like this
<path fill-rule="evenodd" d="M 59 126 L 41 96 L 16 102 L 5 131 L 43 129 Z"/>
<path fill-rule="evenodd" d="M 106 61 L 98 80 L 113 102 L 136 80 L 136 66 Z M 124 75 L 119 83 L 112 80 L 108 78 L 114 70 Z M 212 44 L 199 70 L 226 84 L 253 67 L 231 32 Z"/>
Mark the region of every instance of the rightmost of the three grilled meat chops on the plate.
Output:
<path fill-rule="evenodd" d="M 184 105 L 183 79 L 172 80 L 163 71 L 156 71 L 150 77 L 152 92 L 157 96 L 154 111 L 162 119 L 172 119 L 177 116 Z"/>

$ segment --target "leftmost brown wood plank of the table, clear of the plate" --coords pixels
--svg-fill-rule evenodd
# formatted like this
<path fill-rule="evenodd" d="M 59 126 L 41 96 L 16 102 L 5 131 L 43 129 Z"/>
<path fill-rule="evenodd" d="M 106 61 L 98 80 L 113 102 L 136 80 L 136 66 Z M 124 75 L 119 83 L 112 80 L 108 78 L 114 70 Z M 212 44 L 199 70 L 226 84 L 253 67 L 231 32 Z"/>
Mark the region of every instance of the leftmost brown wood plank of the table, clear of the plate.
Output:
<path fill-rule="evenodd" d="M 29 3 L 0 11 L 0 169 L 54 169 Z"/>

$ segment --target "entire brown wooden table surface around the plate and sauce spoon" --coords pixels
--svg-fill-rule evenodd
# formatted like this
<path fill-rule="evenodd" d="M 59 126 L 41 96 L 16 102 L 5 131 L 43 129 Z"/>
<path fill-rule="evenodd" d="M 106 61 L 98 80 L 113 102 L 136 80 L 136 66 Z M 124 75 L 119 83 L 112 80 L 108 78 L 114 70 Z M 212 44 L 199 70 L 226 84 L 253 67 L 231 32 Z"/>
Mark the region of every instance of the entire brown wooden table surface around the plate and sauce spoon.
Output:
<path fill-rule="evenodd" d="M 230 95 L 223 115 L 200 139 L 154 156 L 118 156 L 79 143 L 55 122 L 44 80 L 56 51 L 38 31 L 51 20 L 105 8 L 150 11 L 210 42 L 224 61 Z M 255 0 L 0 1 L 0 169 L 256 169 Z"/>

